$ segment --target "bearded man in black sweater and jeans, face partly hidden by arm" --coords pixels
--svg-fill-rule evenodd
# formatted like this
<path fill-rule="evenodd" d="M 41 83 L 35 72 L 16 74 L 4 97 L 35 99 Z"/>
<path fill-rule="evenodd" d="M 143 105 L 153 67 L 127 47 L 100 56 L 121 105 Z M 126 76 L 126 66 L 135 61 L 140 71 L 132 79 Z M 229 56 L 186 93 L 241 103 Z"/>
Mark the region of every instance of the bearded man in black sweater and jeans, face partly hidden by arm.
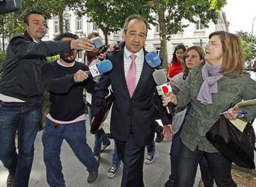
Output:
<path fill-rule="evenodd" d="M 55 40 L 73 41 L 77 35 L 60 34 Z M 60 161 L 62 141 L 69 146 L 89 172 L 87 181 L 98 177 L 98 161 L 87 144 L 85 128 L 85 103 L 83 89 L 92 92 L 95 86 L 92 76 L 88 76 L 88 66 L 75 62 L 77 50 L 61 55 L 53 63 L 42 68 L 46 89 L 50 92 L 50 111 L 45 118 L 43 131 L 43 157 L 49 186 L 65 186 Z"/>

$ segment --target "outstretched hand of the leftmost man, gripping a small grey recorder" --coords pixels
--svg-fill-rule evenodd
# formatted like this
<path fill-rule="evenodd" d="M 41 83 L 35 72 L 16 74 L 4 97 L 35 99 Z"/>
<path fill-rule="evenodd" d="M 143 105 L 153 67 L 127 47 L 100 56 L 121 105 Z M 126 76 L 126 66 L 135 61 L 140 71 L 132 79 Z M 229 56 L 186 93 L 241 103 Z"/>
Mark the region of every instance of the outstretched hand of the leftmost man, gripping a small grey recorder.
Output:
<path fill-rule="evenodd" d="M 77 49 L 77 50 L 93 50 L 93 41 L 88 38 L 82 37 L 79 39 L 75 39 L 70 41 L 70 48 Z"/>

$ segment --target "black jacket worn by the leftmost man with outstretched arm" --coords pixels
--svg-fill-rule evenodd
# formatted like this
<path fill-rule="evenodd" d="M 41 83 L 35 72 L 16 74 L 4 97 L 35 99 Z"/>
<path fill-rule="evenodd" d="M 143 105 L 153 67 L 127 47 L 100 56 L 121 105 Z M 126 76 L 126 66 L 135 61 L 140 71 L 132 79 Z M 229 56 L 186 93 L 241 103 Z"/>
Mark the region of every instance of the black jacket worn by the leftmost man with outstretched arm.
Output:
<path fill-rule="evenodd" d="M 41 67 L 45 57 L 70 52 L 70 41 L 34 42 L 25 31 L 11 39 L 0 79 L 0 94 L 27 102 L 40 100 L 44 90 Z"/>

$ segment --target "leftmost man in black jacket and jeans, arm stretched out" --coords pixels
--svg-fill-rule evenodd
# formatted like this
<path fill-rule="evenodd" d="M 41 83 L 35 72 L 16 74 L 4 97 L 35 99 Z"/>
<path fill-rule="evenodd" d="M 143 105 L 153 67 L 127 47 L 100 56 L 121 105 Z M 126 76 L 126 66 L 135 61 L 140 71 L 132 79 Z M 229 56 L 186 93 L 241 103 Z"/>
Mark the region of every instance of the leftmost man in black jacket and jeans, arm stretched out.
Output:
<path fill-rule="evenodd" d="M 27 12 L 23 22 L 24 34 L 12 38 L 7 47 L 0 80 L 0 159 L 9 170 L 7 187 L 28 186 L 34 141 L 41 119 L 44 90 L 41 67 L 45 57 L 68 53 L 72 49 L 93 49 L 92 42 L 86 38 L 41 41 L 46 22 L 40 12 Z M 15 146 L 16 130 L 19 132 L 19 154 Z"/>

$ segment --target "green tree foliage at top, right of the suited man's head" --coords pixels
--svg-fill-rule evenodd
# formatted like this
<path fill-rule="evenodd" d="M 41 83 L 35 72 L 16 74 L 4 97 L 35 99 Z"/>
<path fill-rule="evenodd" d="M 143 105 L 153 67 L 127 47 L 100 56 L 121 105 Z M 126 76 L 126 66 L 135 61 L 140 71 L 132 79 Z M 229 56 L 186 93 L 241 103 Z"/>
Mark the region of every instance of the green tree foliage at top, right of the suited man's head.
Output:
<path fill-rule="evenodd" d="M 168 4 L 166 4 L 168 2 Z M 226 0 L 187 0 L 187 1 L 166 1 L 155 0 L 153 10 L 156 14 L 160 11 L 165 12 L 164 24 L 166 34 L 170 37 L 171 34 L 176 34 L 183 31 L 189 25 L 182 25 L 182 18 L 189 22 L 196 23 L 195 17 L 200 18 L 200 22 L 204 27 L 208 27 L 208 22 L 212 20 L 214 23 L 218 20 L 218 11 L 226 4 Z M 169 39 L 168 37 L 168 39 Z"/>

